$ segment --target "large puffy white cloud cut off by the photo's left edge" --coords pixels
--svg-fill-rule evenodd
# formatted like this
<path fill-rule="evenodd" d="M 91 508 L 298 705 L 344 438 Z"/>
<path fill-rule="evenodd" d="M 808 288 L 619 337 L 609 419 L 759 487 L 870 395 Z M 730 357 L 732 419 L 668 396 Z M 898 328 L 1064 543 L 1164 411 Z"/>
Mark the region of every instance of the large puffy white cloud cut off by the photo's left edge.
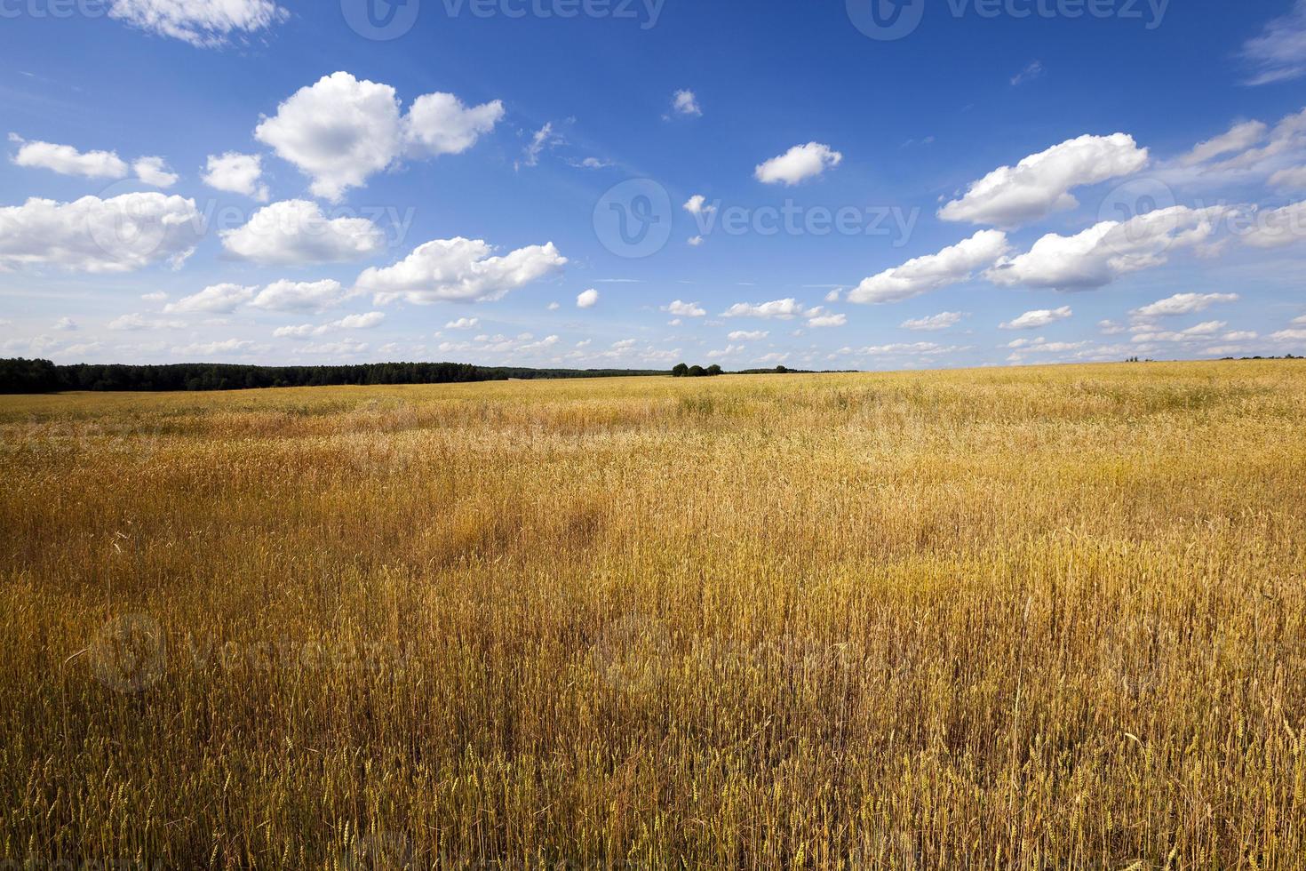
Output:
<path fill-rule="evenodd" d="M 204 235 L 195 200 L 124 193 L 0 208 L 0 272 L 24 266 L 106 273 L 179 266 Z"/>

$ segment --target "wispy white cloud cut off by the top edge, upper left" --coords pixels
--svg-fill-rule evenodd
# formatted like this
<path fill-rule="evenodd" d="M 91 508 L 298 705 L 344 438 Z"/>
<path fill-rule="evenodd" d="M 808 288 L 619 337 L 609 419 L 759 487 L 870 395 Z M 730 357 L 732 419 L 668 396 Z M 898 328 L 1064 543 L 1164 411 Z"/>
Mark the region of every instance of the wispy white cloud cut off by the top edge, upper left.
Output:
<path fill-rule="evenodd" d="M 108 14 L 200 48 L 266 30 L 290 16 L 272 0 L 111 0 Z"/>

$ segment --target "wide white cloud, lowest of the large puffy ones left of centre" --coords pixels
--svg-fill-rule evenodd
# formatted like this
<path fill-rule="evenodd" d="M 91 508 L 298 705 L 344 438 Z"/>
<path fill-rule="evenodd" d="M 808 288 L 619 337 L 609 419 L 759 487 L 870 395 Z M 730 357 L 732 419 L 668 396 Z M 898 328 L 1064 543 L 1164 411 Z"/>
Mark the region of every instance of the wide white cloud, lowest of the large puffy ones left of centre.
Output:
<path fill-rule="evenodd" d="M 502 257 L 481 239 L 435 239 L 392 266 L 367 269 L 355 286 L 377 304 L 405 300 L 418 306 L 441 300 L 492 302 L 565 264 L 554 243 L 518 248 Z"/>

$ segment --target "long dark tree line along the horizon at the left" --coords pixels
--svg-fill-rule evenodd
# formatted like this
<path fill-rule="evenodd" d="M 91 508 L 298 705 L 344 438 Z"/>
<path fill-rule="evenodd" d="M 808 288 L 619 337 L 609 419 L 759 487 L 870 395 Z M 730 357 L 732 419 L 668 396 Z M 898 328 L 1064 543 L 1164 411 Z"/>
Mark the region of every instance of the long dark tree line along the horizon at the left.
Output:
<path fill-rule="evenodd" d="M 529 370 L 466 363 L 370 363 L 363 366 L 55 366 L 50 360 L 0 359 L 0 393 L 56 390 L 243 390 L 269 387 L 458 384 L 512 379 L 576 379 L 666 375 L 650 370 Z"/>

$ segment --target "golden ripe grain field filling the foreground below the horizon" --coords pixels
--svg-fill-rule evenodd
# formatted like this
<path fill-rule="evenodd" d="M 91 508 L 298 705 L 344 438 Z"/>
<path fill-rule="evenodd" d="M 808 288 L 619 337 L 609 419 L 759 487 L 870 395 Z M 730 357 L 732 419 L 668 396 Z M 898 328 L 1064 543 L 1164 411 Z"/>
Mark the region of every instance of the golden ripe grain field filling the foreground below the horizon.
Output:
<path fill-rule="evenodd" d="M 0 436 L 0 868 L 1306 867 L 1306 363 Z"/>

